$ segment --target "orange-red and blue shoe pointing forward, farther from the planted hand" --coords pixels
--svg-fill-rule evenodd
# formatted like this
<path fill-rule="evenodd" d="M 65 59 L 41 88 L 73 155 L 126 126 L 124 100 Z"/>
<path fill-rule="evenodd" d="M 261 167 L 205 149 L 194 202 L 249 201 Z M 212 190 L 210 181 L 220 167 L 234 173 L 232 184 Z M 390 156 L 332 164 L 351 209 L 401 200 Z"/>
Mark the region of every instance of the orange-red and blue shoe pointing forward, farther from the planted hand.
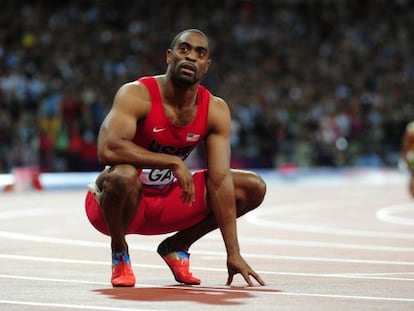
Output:
<path fill-rule="evenodd" d="M 126 251 L 112 254 L 112 277 L 113 287 L 134 287 L 135 276 L 132 271 L 131 260 Z"/>

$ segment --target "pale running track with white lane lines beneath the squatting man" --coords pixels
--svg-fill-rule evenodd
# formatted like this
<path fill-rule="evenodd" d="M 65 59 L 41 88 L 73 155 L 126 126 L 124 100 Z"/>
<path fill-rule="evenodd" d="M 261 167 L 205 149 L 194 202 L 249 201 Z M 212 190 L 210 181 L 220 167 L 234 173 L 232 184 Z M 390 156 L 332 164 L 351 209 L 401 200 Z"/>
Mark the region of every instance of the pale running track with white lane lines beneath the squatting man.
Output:
<path fill-rule="evenodd" d="M 174 282 L 155 252 L 163 236 L 128 236 L 137 285 L 112 288 L 109 240 L 70 175 L 67 187 L 45 177 L 44 191 L 0 193 L 0 310 L 414 310 L 404 173 L 262 173 L 265 202 L 238 222 L 242 253 L 267 282 L 252 288 L 240 276 L 224 285 L 217 231 L 191 249 L 200 286 Z"/>

